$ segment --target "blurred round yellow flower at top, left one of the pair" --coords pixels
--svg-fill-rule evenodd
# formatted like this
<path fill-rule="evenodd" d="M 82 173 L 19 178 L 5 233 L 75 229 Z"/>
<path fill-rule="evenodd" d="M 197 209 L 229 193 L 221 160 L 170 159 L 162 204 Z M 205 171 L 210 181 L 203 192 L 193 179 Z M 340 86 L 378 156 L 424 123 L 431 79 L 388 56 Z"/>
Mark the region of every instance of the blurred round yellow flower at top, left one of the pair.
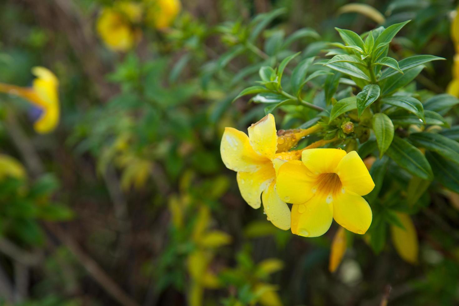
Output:
<path fill-rule="evenodd" d="M 133 2 L 121 2 L 116 7 L 106 7 L 97 19 L 97 32 L 108 48 L 127 51 L 139 40 L 141 32 L 132 22 L 140 19 L 140 6 Z"/>

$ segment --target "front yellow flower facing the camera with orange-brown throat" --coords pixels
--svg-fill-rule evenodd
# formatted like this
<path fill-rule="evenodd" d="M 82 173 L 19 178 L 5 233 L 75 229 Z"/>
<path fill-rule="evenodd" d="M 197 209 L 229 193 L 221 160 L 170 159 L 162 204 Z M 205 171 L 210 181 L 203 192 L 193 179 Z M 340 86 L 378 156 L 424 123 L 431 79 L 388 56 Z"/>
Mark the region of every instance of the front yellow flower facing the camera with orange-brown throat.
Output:
<path fill-rule="evenodd" d="M 304 150 L 302 161 L 280 166 L 276 184 L 280 198 L 293 204 L 293 234 L 320 236 L 332 219 L 357 234 L 364 234 L 371 224 L 371 208 L 362 195 L 375 184 L 356 151 Z"/>

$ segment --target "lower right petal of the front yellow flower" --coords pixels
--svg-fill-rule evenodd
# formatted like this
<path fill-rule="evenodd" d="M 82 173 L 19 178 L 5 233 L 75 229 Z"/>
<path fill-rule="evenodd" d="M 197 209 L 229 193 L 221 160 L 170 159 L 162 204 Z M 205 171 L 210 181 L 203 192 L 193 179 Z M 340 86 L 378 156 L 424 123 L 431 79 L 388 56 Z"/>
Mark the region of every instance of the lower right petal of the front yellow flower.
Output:
<path fill-rule="evenodd" d="M 351 191 L 337 193 L 333 200 L 333 218 L 335 221 L 356 234 L 365 234 L 373 215 L 367 201 Z"/>

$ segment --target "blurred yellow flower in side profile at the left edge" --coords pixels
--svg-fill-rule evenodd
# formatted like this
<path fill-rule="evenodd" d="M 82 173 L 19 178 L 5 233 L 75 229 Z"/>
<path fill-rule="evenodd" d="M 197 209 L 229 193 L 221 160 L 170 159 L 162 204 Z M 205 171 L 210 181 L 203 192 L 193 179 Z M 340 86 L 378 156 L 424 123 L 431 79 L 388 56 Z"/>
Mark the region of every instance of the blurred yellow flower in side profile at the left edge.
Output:
<path fill-rule="evenodd" d="M 0 83 L 0 92 L 20 96 L 37 106 L 41 114 L 34 128 L 38 133 L 45 134 L 53 131 L 59 122 L 59 81 L 54 73 L 44 67 L 34 67 L 32 73 L 37 78 L 31 88 Z"/>

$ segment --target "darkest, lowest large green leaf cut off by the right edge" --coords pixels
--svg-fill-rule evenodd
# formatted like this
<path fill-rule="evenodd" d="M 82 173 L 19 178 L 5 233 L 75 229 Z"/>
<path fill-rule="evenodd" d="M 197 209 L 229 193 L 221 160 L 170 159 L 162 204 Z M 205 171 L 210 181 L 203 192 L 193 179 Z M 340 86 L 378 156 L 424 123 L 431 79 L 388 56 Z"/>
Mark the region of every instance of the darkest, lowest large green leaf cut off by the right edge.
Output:
<path fill-rule="evenodd" d="M 446 188 L 459 193 L 459 166 L 435 152 L 425 152 L 427 160 L 431 163 L 435 178 Z"/>

